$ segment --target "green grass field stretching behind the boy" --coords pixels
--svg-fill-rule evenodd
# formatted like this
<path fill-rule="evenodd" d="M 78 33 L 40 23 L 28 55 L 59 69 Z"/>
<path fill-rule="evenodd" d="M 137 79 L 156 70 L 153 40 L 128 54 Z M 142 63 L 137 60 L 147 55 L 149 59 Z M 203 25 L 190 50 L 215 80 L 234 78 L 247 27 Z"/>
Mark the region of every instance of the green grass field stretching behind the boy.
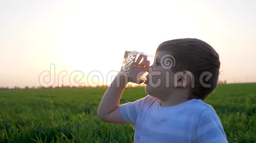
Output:
<path fill-rule="evenodd" d="M 133 142 L 130 125 L 100 121 L 105 88 L 0 91 L 0 142 Z M 127 88 L 120 104 L 146 96 Z M 230 143 L 256 142 L 256 84 L 218 85 L 206 103 L 215 108 Z"/>

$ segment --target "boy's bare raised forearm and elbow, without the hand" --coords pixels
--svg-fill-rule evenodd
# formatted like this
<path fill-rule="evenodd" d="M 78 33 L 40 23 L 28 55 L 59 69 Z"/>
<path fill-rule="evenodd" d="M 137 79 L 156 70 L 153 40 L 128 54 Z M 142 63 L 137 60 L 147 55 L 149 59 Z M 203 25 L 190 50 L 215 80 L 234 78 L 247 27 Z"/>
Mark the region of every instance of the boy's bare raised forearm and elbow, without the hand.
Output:
<path fill-rule="evenodd" d="M 120 97 L 128 83 L 128 78 L 118 73 L 109 88 L 106 90 L 99 104 L 97 115 L 105 122 L 127 123 L 120 115 Z"/>

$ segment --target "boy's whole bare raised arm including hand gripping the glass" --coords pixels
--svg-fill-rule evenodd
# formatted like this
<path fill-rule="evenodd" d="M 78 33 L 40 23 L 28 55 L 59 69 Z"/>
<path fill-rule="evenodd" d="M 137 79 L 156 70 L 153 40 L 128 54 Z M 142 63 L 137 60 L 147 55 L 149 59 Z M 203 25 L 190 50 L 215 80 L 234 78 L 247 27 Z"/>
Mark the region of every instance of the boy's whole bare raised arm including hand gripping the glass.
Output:
<path fill-rule="evenodd" d="M 141 59 L 143 59 L 142 62 L 140 62 Z M 149 61 L 147 61 L 147 58 L 143 58 L 142 55 L 139 55 L 138 59 L 135 61 L 134 58 L 134 61 L 131 64 L 129 75 L 126 75 L 122 72 L 117 74 L 116 78 L 113 80 L 103 95 L 98 107 L 97 115 L 102 121 L 113 123 L 128 123 L 128 121 L 124 121 L 120 114 L 120 97 L 128 82 L 134 82 L 138 84 L 143 83 L 139 77 L 147 71 L 148 67 Z M 128 104 L 126 107 L 134 108 L 134 105 Z M 128 110 L 128 112 L 130 111 L 132 112 L 133 110 Z"/>

